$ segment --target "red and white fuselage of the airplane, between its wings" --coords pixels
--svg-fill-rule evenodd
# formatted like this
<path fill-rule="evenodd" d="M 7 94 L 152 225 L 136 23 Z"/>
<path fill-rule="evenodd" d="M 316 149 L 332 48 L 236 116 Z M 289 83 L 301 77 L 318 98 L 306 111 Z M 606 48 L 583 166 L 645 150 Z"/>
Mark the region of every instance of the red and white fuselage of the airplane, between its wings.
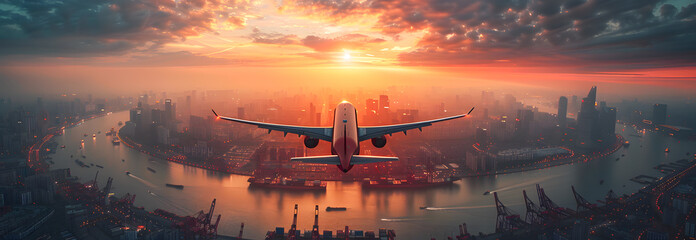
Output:
<path fill-rule="evenodd" d="M 343 172 L 348 172 L 353 167 L 350 159 L 360 153 L 357 112 L 353 104 L 346 101 L 339 103 L 334 111 L 331 153 L 338 155 L 341 161 L 338 168 Z"/>

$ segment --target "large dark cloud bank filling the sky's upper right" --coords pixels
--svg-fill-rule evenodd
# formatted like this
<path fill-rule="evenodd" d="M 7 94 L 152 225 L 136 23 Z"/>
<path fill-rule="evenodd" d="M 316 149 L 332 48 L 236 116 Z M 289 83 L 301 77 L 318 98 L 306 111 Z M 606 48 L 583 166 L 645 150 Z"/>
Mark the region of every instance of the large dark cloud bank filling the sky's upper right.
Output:
<path fill-rule="evenodd" d="M 336 21 L 372 14 L 384 34 L 425 31 L 404 64 L 696 63 L 696 4 L 659 0 L 289 0 Z"/>

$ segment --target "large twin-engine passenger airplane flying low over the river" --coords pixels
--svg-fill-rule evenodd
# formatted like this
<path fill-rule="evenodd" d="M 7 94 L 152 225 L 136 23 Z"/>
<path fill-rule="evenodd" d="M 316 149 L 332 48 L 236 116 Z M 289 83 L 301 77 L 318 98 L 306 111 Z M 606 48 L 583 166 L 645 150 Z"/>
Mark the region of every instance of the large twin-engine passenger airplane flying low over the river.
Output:
<path fill-rule="evenodd" d="M 377 148 L 382 148 L 387 144 L 387 134 L 391 136 L 393 133 L 403 132 L 405 135 L 407 130 L 416 128 L 423 131 L 423 127 L 430 126 L 433 123 L 468 116 L 472 111 L 474 111 L 474 108 L 471 108 L 471 110 L 469 110 L 469 112 L 466 114 L 446 118 L 370 127 L 358 127 L 358 112 L 353 104 L 348 101 L 343 101 L 336 106 L 332 127 L 306 127 L 256 122 L 219 116 L 215 110 L 211 110 L 213 111 L 213 114 L 215 114 L 216 119 L 256 125 L 258 128 L 267 129 L 269 134 L 271 131 L 280 131 L 283 132 L 283 136 L 287 136 L 288 133 L 297 134 L 299 137 L 305 136 L 304 145 L 307 148 L 315 148 L 317 145 L 319 145 L 319 140 L 331 142 L 331 155 L 293 157 L 290 160 L 303 163 L 336 165 L 341 171 L 347 173 L 351 168 L 353 168 L 354 165 L 357 164 L 399 160 L 397 157 L 358 155 L 360 153 L 360 142 L 371 140 L 372 145 Z"/>

